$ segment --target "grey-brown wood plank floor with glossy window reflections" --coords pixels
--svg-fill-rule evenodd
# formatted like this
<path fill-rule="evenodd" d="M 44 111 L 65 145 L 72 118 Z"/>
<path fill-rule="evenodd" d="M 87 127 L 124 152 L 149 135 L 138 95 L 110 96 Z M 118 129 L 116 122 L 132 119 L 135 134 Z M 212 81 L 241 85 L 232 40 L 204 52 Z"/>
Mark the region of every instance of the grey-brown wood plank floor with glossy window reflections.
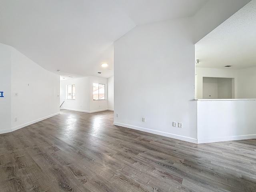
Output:
<path fill-rule="evenodd" d="M 256 140 L 192 144 L 62 111 L 0 135 L 0 192 L 256 192 Z"/>

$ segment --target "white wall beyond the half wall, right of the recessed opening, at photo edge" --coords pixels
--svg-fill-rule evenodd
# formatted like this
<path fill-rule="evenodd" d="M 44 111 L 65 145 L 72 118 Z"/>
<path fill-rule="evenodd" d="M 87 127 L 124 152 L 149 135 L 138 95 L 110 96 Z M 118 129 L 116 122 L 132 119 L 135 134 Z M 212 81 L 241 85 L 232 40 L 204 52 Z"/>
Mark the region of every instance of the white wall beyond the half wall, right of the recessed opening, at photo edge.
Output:
<path fill-rule="evenodd" d="M 238 98 L 256 98 L 256 66 L 238 71 Z"/>

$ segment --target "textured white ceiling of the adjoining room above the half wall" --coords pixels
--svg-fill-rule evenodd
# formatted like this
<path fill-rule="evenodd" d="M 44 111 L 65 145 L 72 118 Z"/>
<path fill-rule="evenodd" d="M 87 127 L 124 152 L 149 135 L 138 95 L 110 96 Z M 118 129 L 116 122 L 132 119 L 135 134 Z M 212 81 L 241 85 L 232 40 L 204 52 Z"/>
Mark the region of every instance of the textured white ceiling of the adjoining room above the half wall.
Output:
<path fill-rule="evenodd" d="M 196 67 L 256 66 L 256 0 L 252 0 L 196 43 Z"/>

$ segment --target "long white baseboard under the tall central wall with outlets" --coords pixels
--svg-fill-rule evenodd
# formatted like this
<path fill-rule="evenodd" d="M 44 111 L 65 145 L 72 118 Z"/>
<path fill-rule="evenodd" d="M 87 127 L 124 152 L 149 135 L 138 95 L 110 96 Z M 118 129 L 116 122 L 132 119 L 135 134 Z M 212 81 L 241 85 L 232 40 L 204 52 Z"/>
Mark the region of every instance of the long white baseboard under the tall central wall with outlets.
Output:
<path fill-rule="evenodd" d="M 138 127 L 138 126 L 132 126 L 132 125 L 118 123 L 118 122 L 114 122 L 114 125 L 130 128 L 130 129 L 135 129 L 135 130 L 139 130 L 139 131 L 143 131 L 143 132 L 147 132 L 147 133 L 153 133 L 153 134 L 157 134 L 157 135 L 161 135 L 161 136 L 166 136 L 166 137 L 170 137 L 170 138 L 174 138 L 174 139 L 178 139 L 178 140 L 187 141 L 187 142 L 191 142 L 191 143 L 196 143 L 197 144 L 197 139 L 196 138 L 191 138 L 191 137 L 186 137 L 186 136 L 166 133 L 166 132 L 162 132 L 162 131 L 147 129 L 147 128 Z"/>

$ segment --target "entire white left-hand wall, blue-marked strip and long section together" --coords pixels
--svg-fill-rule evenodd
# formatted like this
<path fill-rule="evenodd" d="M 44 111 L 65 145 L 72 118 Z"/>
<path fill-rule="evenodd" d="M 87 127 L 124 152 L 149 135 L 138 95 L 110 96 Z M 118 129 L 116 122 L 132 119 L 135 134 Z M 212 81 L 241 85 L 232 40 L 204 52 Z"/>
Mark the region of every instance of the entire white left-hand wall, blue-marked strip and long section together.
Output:
<path fill-rule="evenodd" d="M 0 63 L 0 89 L 4 91 L 4 98 L 0 98 L 0 133 L 59 114 L 58 75 L 3 44 L 0 44 Z"/>

